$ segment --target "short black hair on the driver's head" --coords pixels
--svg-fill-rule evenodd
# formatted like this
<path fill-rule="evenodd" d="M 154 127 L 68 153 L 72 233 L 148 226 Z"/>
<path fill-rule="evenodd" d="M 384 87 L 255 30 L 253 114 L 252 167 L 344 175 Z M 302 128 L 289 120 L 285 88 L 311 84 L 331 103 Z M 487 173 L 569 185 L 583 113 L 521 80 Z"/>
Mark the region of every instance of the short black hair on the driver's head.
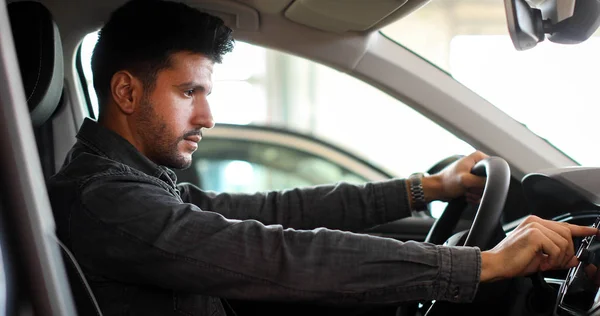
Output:
<path fill-rule="evenodd" d="M 232 49 L 231 29 L 215 16 L 183 3 L 132 0 L 115 10 L 98 33 L 92 71 L 100 112 L 112 76 L 120 70 L 138 77 L 147 93 L 157 73 L 169 67 L 171 54 L 189 51 L 220 63 Z"/>

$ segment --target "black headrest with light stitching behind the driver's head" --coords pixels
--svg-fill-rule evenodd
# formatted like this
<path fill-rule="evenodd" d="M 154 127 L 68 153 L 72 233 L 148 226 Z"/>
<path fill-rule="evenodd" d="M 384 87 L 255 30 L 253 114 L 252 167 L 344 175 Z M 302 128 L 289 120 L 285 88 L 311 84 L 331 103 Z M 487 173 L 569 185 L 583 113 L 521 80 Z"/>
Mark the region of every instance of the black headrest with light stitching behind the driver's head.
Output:
<path fill-rule="evenodd" d="M 40 3 L 14 2 L 7 8 L 31 121 L 37 127 L 54 113 L 63 90 L 60 34 Z"/>

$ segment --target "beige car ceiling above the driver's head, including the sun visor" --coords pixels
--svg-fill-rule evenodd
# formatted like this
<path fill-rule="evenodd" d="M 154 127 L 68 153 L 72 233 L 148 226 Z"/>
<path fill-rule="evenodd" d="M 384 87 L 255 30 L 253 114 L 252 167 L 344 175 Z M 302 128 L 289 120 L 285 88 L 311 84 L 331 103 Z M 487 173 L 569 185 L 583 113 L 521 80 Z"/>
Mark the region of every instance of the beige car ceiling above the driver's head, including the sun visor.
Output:
<path fill-rule="evenodd" d="M 23 0 L 8 0 L 16 2 Z M 52 12 L 65 58 L 127 0 L 37 0 Z M 183 0 L 221 17 L 236 40 L 290 52 L 351 71 L 364 55 L 368 34 L 429 0 Z M 68 5 L 66 5 L 68 3 Z M 369 12 L 369 14 L 365 14 Z M 341 45 L 340 45 L 341 44 Z M 72 57 L 71 57 L 72 58 Z M 68 63 L 69 60 L 66 60 Z"/>

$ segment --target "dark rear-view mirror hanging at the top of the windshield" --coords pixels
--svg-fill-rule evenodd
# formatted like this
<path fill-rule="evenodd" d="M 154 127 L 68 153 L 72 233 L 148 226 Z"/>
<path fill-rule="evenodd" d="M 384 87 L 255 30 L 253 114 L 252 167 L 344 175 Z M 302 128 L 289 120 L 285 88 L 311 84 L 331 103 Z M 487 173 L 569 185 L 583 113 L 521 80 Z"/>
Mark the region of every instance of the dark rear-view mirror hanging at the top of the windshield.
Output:
<path fill-rule="evenodd" d="M 525 0 L 504 0 L 504 7 L 517 50 L 535 47 L 546 34 L 554 43 L 581 43 L 600 26 L 600 0 L 546 0 L 539 8 Z"/>

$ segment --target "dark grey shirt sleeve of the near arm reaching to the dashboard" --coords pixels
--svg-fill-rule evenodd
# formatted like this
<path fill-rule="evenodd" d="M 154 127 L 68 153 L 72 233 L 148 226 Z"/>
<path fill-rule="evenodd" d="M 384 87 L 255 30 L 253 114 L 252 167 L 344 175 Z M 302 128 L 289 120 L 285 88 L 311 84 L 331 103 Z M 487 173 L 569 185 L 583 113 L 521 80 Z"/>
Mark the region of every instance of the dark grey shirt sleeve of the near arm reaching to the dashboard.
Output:
<path fill-rule="evenodd" d="M 88 184 L 81 202 L 72 250 L 87 271 L 120 282 L 335 304 L 468 302 L 479 282 L 478 248 L 227 219 L 131 176 Z"/>

